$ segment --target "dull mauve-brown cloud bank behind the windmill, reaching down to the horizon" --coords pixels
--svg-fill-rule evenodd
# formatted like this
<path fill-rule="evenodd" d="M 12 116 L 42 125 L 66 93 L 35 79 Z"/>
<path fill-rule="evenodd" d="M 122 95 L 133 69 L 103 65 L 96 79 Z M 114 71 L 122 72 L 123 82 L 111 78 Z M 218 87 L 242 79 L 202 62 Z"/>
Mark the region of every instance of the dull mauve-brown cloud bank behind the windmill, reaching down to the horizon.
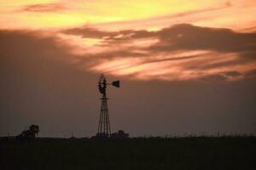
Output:
<path fill-rule="evenodd" d="M 0 46 L 0 135 L 17 135 L 32 123 L 40 126 L 40 136 L 69 137 L 71 131 L 76 137 L 95 135 L 100 106 L 97 75 L 64 62 L 74 57 L 69 46 L 34 31 L 0 31 Z M 255 79 L 214 81 L 224 78 L 216 75 L 211 83 L 201 83 L 121 77 L 122 88 L 108 89 L 113 132 L 256 133 Z"/>

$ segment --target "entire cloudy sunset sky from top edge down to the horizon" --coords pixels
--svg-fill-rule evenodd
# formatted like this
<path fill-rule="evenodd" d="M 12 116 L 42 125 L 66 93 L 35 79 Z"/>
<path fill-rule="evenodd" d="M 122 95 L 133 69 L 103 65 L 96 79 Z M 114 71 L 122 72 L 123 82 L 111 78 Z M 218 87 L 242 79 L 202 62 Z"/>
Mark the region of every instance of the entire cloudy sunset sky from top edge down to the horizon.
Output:
<path fill-rule="evenodd" d="M 0 136 L 256 134 L 255 0 L 0 0 Z"/>

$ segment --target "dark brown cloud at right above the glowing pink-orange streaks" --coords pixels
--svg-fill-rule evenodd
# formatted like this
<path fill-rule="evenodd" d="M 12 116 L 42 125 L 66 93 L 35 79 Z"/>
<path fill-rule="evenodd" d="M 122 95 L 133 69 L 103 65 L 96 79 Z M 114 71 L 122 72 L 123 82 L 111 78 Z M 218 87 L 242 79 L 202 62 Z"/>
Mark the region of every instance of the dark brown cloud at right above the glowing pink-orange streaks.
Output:
<path fill-rule="evenodd" d="M 69 29 L 63 32 L 82 35 L 83 37 L 102 38 L 103 46 L 106 47 L 111 47 L 112 45 L 121 47 L 122 44 L 129 44 L 130 42 L 136 42 L 140 39 L 151 38 L 158 40 L 158 42 L 153 43 L 148 48 L 134 46 L 131 48 L 119 48 L 119 50 L 110 52 L 102 52 L 100 54 L 90 54 L 95 59 L 102 57 L 111 59 L 118 56 L 147 57 L 154 54 L 172 54 L 177 51 L 195 50 L 212 51 L 215 55 L 236 54 L 239 56 L 239 59 L 236 60 L 204 63 L 201 65 L 195 63 L 195 65 L 197 65 L 196 69 L 201 68 L 201 70 L 231 65 L 243 65 L 256 59 L 256 33 L 241 33 L 226 28 L 182 24 L 164 28 L 160 31 L 99 31 L 85 27 Z M 134 53 L 137 49 L 143 50 L 143 53 Z M 208 55 L 206 54 L 204 57 L 207 58 Z M 170 59 L 172 59 L 172 56 L 170 56 Z M 152 62 L 152 59 L 149 59 L 148 62 Z M 189 67 L 191 67 L 191 65 Z"/>

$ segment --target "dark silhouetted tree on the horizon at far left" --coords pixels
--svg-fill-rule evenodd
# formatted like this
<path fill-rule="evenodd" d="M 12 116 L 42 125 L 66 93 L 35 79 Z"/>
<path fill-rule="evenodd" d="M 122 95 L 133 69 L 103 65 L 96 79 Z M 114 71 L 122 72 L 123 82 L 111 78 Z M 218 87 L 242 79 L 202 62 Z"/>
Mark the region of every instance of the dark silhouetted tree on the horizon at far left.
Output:
<path fill-rule="evenodd" d="M 29 127 L 29 129 L 26 129 L 24 131 L 22 131 L 22 133 L 20 133 L 20 135 L 17 136 L 17 139 L 20 139 L 20 140 L 32 140 L 32 139 L 35 139 L 36 136 L 38 135 L 39 133 L 39 127 L 38 125 L 31 125 Z"/>

